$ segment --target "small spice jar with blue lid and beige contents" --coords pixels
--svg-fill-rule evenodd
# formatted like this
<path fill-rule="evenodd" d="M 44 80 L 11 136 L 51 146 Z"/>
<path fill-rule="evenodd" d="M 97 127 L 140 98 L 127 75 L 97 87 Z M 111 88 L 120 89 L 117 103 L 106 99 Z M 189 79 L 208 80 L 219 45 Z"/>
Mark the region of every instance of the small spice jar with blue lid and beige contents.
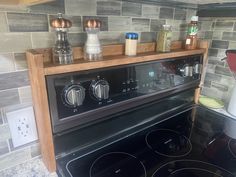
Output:
<path fill-rule="evenodd" d="M 125 55 L 135 56 L 137 55 L 138 34 L 126 33 L 125 36 Z"/>

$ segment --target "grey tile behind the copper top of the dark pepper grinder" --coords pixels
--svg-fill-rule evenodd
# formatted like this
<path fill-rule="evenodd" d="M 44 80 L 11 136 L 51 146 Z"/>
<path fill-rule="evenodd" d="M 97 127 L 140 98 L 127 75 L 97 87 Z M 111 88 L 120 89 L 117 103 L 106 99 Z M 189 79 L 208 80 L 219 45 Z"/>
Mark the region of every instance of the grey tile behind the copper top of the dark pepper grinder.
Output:
<path fill-rule="evenodd" d="M 55 18 L 57 18 L 56 15 L 50 15 L 49 21 L 51 21 Z M 71 21 L 72 27 L 69 29 L 70 32 L 82 32 L 83 31 L 81 16 L 63 15 L 63 18 Z M 50 26 L 50 31 L 54 32 L 55 30 Z"/>

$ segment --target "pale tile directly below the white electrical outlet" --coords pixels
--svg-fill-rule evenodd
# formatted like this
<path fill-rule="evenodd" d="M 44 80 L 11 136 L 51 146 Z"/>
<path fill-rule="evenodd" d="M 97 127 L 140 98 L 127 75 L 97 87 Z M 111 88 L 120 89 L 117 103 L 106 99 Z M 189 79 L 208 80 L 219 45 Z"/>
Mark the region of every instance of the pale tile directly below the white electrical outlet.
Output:
<path fill-rule="evenodd" d="M 22 149 L 0 157 L 0 171 L 31 159 L 30 149 Z"/>

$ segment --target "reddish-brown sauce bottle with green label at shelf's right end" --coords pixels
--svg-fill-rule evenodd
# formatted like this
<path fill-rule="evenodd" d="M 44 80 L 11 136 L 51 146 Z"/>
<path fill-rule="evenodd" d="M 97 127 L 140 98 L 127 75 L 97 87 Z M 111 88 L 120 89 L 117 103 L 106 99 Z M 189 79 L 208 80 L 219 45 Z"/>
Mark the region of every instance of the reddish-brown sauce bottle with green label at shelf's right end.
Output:
<path fill-rule="evenodd" d="M 192 16 L 188 26 L 187 38 L 185 41 L 185 49 L 193 50 L 197 48 L 197 32 L 198 32 L 198 16 Z"/>

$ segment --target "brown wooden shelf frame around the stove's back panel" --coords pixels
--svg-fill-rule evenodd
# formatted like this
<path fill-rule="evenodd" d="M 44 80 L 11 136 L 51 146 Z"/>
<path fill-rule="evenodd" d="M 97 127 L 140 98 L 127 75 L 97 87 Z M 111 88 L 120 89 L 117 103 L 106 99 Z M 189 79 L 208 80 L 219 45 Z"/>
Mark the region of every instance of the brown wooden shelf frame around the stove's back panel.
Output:
<path fill-rule="evenodd" d="M 123 44 L 103 46 L 103 60 L 93 62 L 85 61 L 83 59 L 82 47 L 74 47 L 74 63 L 67 65 L 59 65 L 58 63 L 53 62 L 51 48 L 31 49 L 27 51 L 29 77 L 41 153 L 47 169 L 50 172 L 56 171 L 56 159 L 45 76 L 196 54 L 204 55 L 204 66 L 206 66 L 209 48 L 208 41 L 199 40 L 198 49 L 196 50 L 184 50 L 182 49 L 182 44 L 182 41 L 174 41 L 171 45 L 171 52 L 157 53 L 155 52 L 156 43 L 141 43 L 138 45 L 138 54 L 134 57 L 124 56 Z M 200 87 L 204 82 L 204 76 L 205 69 L 203 70 L 201 84 L 195 92 L 196 103 L 198 102 L 198 97 L 200 95 Z"/>

